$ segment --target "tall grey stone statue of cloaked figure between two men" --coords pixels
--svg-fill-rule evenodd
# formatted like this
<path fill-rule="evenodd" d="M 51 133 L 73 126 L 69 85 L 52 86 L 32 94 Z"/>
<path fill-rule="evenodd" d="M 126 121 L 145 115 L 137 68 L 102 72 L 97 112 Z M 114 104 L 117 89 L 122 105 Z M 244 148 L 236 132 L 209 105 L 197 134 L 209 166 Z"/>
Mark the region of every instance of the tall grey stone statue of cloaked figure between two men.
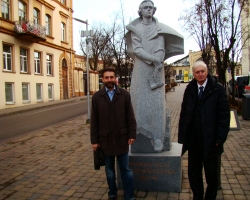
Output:
<path fill-rule="evenodd" d="M 170 149 L 167 128 L 165 75 L 163 62 L 183 54 L 183 37 L 153 17 L 156 7 L 151 0 L 142 1 L 139 18 L 127 25 L 128 54 L 134 59 L 130 86 L 137 120 L 137 140 L 132 153 L 161 152 Z"/>

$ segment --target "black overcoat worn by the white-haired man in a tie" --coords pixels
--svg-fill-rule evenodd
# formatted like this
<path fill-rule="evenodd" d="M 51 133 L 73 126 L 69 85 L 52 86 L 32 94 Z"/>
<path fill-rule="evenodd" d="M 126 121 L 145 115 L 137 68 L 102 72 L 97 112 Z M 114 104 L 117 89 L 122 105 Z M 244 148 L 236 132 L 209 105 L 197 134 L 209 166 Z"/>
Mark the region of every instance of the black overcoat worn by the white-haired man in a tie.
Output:
<path fill-rule="evenodd" d="M 188 150 L 194 129 L 192 117 L 198 101 L 197 81 L 193 79 L 184 92 L 178 129 L 178 143 L 183 144 L 182 155 Z M 200 100 L 199 110 L 204 144 L 204 157 L 219 155 L 223 152 L 230 127 L 230 108 L 224 87 L 212 76 Z M 216 146 L 216 143 L 218 146 Z M 198 145 L 198 144 L 193 144 Z"/>

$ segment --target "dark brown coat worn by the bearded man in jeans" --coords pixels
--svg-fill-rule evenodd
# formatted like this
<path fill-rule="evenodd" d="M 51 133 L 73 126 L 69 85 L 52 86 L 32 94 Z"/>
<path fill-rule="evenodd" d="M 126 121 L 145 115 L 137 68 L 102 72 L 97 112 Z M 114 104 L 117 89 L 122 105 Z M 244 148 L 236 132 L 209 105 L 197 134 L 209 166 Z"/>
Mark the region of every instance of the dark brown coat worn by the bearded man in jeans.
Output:
<path fill-rule="evenodd" d="M 128 139 L 136 138 L 136 120 L 128 91 L 116 87 L 112 102 L 103 87 L 92 97 L 91 144 L 100 144 L 105 155 L 127 153 Z"/>

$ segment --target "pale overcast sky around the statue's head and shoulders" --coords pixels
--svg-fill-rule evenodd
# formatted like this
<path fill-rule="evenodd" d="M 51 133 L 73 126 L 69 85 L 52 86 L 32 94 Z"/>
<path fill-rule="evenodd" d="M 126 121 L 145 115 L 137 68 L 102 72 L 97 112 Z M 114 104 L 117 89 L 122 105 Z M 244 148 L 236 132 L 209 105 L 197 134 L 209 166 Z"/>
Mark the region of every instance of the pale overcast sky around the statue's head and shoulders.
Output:
<path fill-rule="evenodd" d="M 73 17 L 81 19 L 83 21 L 88 20 L 89 29 L 92 25 L 105 23 L 110 24 L 113 22 L 112 17 L 114 13 L 121 12 L 121 3 L 124 8 L 124 17 L 128 24 L 131 20 L 139 17 L 138 7 L 142 0 L 73 0 Z M 172 63 L 186 55 L 189 50 L 198 51 L 199 47 L 196 42 L 189 37 L 188 33 L 184 33 L 181 29 L 178 18 L 184 8 L 188 8 L 192 5 L 188 1 L 183 0 L 153 0 L 157 7 L 155 17 L 159 22 L 164 23 L 171 28 L 175 29 L 184 36 L 184 49 L 183 55 L 175 56 L 167 60 L 168 63 Z M 74 31 L 74 50 L 77 54 L 81 54 L 79 49 L 80 43 L 80 30 L 85 30 L 86 25 L 73 20 Z"/>

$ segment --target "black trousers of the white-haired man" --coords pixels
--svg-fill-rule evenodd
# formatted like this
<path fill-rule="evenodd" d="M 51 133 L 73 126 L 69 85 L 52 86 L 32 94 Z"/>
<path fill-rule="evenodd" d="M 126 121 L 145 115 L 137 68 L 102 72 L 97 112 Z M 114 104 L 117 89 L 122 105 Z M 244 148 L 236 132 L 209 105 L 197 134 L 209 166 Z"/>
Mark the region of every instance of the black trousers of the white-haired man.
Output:
<path fill-rule="evenodd" d="M 217 196 L 218 173 L 217 173 L 217 155 L 204 159 L 203 148 L 193 147 L 188 150 L 188 178 L 190 187 L 193 191 L 194 200 L 203 200 L 204 185 L 202 169 L 204 167 L 207 189 L 205 200 L 215 200 Z"/>

